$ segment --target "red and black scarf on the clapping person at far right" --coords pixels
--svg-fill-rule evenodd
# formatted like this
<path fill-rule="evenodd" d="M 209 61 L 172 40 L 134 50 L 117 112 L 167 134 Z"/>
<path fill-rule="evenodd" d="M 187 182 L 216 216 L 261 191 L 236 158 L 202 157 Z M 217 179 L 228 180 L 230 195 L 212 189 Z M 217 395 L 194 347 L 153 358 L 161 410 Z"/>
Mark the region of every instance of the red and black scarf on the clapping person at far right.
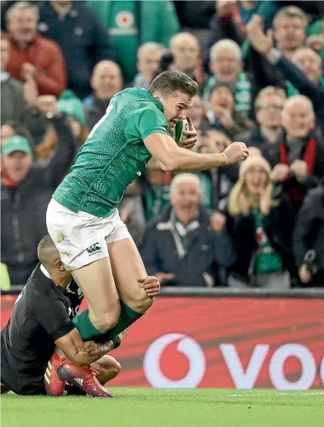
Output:
<path fill-rule="evenodd" d="M 310 138 L 307 142 L 305 153 L 303 155 L 303 161 L 307 164 L 307 173 L 309 175 L 311 175 L 314 171 L 315 153 L 316 139 Z M 290 166 L 287 148 L 283 143 L 279 145 L 279 163 L 283 163 L 283 165 Z M 291 178 L 292 176 L 289 174 L 285 179 L 285 182 L 288 182 Z M 296 202 L 302 202 L 303 198 L 305 197 L 305 191 L 303 191 L 300 187 L 296 187 L 291 189 L 290 191 L 287 191 L 287 194 L 292 200 L 295 200 Z"/>

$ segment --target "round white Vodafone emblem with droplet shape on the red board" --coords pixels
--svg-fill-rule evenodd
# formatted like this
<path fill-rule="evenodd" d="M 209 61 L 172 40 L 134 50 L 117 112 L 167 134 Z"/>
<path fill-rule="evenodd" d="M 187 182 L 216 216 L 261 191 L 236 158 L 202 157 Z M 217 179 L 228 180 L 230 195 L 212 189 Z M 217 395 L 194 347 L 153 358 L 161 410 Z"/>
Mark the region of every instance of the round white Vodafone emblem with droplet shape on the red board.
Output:
<path fill-rule="evenodd" d="M 176 349 L 188 359 L 188 372 L 182 379 L 170 379 L 162 373 L 161 357 L 166 348 L 178 342 Z M 195 388 L 199 386 L 206 370 L 202 347 L 191 337 L 182 333 L 168 333 L 155 340 L 147 349 L 143 361 L 147 382 L 155 388 Z"/>

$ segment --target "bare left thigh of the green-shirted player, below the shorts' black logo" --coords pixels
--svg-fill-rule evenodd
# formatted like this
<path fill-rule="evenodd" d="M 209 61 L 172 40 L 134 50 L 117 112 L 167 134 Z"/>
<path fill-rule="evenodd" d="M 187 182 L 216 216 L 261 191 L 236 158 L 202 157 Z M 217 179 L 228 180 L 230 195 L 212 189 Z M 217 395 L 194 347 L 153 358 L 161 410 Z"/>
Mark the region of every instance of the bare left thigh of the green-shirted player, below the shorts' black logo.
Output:
<path fill-rule="evenodd" d="M 109 257 L 72 271 L 74 280 L 87 300 L 91 320 L 102 315 L 119 316 L 120 304 Z"/>

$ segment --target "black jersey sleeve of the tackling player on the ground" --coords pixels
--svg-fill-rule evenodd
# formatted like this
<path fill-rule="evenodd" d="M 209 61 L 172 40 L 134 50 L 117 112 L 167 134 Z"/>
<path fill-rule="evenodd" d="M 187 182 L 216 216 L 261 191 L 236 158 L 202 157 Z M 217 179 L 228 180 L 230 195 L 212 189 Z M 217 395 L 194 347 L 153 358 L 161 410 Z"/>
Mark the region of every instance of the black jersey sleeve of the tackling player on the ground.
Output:
<path fill-rule="evenodd" d="M 40 304 L 35 315 L 36 320 L 53 341 L 74 329 L 74 324 L 69 319 L 65 305 L 61 300 L 52 300 L 52 304 Z"/>

